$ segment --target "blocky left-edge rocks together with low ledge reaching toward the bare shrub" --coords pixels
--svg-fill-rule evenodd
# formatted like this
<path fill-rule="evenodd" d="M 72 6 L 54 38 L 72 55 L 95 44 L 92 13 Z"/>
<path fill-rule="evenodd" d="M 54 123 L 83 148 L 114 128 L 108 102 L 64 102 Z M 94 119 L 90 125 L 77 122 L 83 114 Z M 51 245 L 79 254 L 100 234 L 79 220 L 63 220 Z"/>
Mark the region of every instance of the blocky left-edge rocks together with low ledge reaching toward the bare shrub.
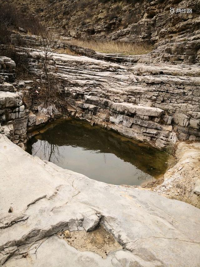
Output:
<path fill-rule="evenodd" d="M 27 131 L 37 128 L 50 120 L 49 115 L 36 116 L 28 110 L 24 96 L 30 96 L 29 83 L 15 82 L 15 63 L 7 57 L 0 57 L 0 125 L 1 132 L 13 143 L 25 149 Z M 12 83 L 11 83 L 12 82 Z"/>

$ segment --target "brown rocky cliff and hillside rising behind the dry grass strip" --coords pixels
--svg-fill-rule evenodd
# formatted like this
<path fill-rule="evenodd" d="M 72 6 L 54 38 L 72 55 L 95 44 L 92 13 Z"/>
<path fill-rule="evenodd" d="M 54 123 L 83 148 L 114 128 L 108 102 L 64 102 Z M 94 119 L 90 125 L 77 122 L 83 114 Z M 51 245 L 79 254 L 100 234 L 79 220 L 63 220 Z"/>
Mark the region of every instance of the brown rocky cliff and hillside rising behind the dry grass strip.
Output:
<path fill-rule="evenodd" d="M 28 7 L 9 1 L 25 15 L 32 10 L 50 19 L 53 14 L 68 38 L 151 42 L 165 61 L 199 63 L 200 0 L 28 0 Z"/>

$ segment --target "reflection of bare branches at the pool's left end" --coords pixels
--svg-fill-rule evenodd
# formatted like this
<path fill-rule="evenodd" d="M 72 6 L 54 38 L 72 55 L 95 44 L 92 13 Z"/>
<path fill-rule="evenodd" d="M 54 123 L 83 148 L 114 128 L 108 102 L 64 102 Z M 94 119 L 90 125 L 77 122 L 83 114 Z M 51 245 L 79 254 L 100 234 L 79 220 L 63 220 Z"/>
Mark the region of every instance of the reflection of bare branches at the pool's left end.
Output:
<path fill-rule="evenodd" d="M 40 152 L 40 158 L 46 158 L 48 161 L 52 162 L 53 158 L 57 160 L 57 162 L 61 162 L 63 156 L 61 156 L 59 151 L 59 146 L 55 144 L 50 144 L 48 141 L 37 140 L 34 144 L 37 146 L 37 150 L 32 156 L 36 156 L 38 152 Z"/>

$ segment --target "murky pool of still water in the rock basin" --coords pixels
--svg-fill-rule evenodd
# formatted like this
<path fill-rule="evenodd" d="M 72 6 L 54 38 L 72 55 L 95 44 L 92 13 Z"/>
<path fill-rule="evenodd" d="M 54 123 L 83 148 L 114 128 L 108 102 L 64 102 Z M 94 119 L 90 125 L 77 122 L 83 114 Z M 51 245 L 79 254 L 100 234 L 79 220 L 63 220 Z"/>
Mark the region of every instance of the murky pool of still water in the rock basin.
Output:
<path fill-rule="evenodd" d="M 48 124 L 28 141 L 27 152 L 116 185 L 153 181 L 166 171 L 168 161 L 163 151 L 75 119 Z"/>

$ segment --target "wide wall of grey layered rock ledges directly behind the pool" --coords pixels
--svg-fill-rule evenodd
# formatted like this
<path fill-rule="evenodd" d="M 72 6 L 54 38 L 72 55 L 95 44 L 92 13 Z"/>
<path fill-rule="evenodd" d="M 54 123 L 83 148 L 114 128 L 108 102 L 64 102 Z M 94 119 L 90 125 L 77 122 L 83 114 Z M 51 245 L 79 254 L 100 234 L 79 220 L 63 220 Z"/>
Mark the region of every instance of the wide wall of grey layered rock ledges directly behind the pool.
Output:
<path fill-rule="evenodd" d="M 24 53 L 31 71 L 39 74 L 42 53 L 36 48 Z M 197 65 L 117 64 L 54 53 L 51 67 L 72 116 L 160 149 L 177 138 L 200 140 Z"/>

